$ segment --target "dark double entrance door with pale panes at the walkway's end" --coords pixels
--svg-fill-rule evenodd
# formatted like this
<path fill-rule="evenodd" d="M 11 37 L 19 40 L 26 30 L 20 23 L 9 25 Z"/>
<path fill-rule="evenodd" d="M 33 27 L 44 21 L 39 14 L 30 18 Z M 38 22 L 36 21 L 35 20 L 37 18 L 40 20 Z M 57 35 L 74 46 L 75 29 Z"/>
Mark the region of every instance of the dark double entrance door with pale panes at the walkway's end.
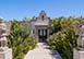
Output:
<path fill-rule="evenodd" d="M 45 43 L 47 38 L 47 30 L 38 30 L 38 38 L 40 43 Z"/>

